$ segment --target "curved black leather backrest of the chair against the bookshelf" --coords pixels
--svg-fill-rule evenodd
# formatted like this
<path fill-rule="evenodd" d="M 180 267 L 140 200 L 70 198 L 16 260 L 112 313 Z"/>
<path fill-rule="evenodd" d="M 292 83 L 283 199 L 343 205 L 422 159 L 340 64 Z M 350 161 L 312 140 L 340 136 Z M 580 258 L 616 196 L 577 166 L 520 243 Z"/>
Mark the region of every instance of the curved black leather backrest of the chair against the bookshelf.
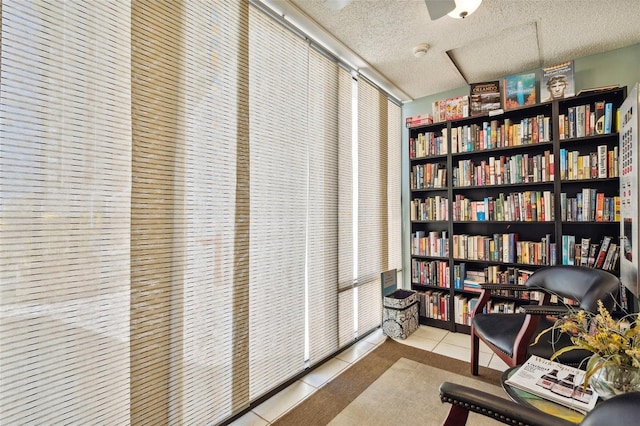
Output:
<path fill-rule="evenodd" d="M 586 266 L 555 265 L 535 271 L 525 285 L 566 297 L 580 303 L 580 308 L 595 312 L 598 300 L 611 311 L 620 290 L 620 279 L 610 272 Z"/>

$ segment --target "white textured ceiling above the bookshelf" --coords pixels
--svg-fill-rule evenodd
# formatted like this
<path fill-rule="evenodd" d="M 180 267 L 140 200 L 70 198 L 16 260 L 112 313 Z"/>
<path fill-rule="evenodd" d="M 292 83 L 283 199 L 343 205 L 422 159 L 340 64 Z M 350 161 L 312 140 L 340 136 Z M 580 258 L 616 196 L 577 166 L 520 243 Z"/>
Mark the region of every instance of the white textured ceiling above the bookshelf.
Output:
<path fill-rule="evenodd" d="M 313 38 L 328 33 L 401 101 L 640 43 L 640 0 L 484 0 L 465 19 L 436 21 L 424 0 L 264 3 L 307 22 Z M 415 58 L 419 43 L 431 48 Z"/>

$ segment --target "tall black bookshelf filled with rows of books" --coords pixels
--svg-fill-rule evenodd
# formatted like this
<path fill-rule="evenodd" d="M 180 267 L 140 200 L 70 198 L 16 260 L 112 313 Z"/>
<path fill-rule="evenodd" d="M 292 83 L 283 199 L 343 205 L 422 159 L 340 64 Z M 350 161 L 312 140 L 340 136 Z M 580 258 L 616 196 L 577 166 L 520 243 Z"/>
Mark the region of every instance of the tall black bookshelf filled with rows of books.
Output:
<path fill-rule="evenodd" d="M 589 264 L 594 250 L 595 264 L 603 240 L 619 244 L 616 111 L 625 96 L 617 88 L 409 129 L 421 323 L 469 333 L 478 282 L 523 283 L 547 265 Z M 606 254 L 598 266 L 617 273 L 615 249 L 605 264 Z M 505 292 L 492 308 L 535 298 Z"/>

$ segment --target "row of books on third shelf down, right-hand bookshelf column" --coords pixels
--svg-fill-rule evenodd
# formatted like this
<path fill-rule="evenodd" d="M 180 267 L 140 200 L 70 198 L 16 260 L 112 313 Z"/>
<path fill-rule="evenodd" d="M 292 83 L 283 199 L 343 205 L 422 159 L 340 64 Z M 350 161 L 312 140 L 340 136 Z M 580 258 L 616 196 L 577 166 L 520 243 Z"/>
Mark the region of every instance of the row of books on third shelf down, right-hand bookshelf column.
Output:
<path fill-rule="evenodd" d="M 594 188 L 582 188 L 575 197 L 562 192 L 560 216 L 563 222 L 619 222 L 620 197 L 607 197 Z"/>

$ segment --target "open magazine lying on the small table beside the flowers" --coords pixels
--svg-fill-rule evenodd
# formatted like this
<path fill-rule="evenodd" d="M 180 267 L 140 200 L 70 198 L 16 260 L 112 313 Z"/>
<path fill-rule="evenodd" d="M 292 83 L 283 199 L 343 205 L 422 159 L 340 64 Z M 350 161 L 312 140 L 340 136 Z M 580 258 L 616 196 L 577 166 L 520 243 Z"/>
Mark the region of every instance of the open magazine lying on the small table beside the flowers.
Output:
<path fill-rule="evenodd" d="M 595 407 L 598 394 L 582 386 L 584 375 L 583 370 L 534 355 L 506 383 L 586 414 Z"/>

